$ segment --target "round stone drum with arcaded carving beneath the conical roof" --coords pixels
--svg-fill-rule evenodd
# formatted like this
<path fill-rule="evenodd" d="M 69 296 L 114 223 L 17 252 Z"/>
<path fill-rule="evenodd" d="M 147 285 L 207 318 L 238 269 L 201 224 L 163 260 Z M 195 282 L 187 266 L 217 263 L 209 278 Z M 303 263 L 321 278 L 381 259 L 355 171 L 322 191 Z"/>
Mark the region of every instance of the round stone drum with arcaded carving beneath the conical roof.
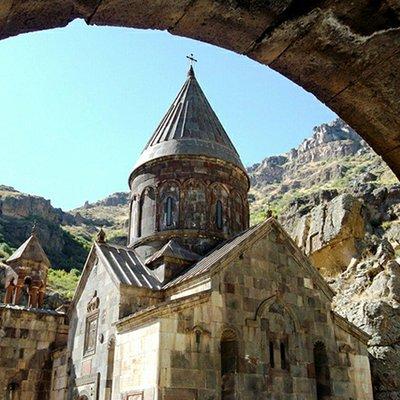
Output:
<path fill-rule="evenodd" d="M 205 254 L 248 227 L 247 177 L 223 161 L 190 156 L 160 159 L 136 171 L 131 188 L 130 244 L 139 252 L 148 246 L 145 258 L 173 237 Z M 168 196 L 174 199 L 171 226 L 164 221 Z M 216 226 L 217 200 L 223 208 L 222 229 Z"/>

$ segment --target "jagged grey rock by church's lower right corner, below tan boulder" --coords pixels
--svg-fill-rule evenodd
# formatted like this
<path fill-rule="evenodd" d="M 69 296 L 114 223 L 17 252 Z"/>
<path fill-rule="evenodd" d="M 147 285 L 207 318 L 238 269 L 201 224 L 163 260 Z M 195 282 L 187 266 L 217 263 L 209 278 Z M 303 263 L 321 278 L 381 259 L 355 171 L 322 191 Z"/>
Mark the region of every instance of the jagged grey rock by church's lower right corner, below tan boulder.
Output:
<path fill-rule="evenodd" d="M 331 281 L 335 309 L 371 335 L 376 400 L 400 398 L 400 265 L 387 240 Z"/>

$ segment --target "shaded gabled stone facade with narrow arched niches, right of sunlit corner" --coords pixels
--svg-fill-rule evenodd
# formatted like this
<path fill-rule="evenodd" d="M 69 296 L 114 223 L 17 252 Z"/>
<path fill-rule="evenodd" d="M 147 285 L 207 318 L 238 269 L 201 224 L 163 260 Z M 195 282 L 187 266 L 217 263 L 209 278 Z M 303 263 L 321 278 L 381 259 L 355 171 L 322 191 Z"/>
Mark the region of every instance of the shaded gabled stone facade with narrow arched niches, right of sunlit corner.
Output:
<path fill-rule="evenodd" d="M 161 398 L 228 399 L 221 387 L 229 393 L 230 385 L 242 400 L 316 399 L 319 344 L 330 398 L 371 400 L 370 381 L 361 385 L 369 376 L 366 346 L 336 326 L 317 283 L 279 233 L 247 248 L 213 276 L 210 301 L 162 317 Z M 221 377 L 224 337 L 236 341 L 237 360 Z"/>

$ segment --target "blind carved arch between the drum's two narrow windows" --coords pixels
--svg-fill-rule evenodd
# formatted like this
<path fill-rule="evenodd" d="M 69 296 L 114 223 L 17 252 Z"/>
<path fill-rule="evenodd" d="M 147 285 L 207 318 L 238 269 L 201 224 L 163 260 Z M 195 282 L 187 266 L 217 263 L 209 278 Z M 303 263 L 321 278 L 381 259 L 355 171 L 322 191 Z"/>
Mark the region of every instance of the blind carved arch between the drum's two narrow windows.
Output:
<path fill-rule="evenodd" d="M 191 178 L 183 182 L 181 190 L 181 223 L 187 229 L 207 227 L 207 185 L 201 179 Z"/>

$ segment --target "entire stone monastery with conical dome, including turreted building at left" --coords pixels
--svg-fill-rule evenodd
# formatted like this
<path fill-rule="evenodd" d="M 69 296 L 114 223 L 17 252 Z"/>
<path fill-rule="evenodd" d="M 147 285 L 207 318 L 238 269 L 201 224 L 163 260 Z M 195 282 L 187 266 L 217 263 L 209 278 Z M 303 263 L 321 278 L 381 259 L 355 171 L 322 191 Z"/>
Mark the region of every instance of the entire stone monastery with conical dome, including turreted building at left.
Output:
<path fill-rule="evenodd" d="M 36 234 L 6 262 L 0 398 L 370 400 L 369 336 L 272 217 L 193 68 L 130 177 L 126 247 L 98 234 L 68 309 Z"/>

